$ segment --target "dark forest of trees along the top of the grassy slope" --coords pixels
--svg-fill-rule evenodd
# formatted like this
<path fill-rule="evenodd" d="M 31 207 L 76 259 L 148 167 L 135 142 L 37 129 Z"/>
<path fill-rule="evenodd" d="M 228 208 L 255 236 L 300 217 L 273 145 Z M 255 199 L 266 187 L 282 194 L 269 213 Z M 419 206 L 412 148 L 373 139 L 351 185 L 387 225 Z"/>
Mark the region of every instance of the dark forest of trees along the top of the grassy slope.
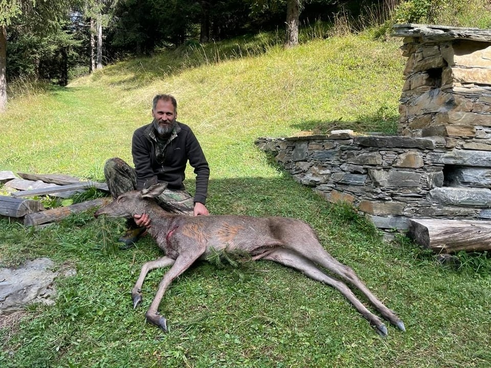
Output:
<path fill-rule="evenodd" d="M 307 38 L 386 37 L 406 22 L 490 28 L 490 9 L 488 0 L 0 0 L 0 88 L 15 96 L 19 82 L 63 86 L 117 60 L 260 32 L 295 45 L 307 40 L 302 28 L 315 29 Z"/>

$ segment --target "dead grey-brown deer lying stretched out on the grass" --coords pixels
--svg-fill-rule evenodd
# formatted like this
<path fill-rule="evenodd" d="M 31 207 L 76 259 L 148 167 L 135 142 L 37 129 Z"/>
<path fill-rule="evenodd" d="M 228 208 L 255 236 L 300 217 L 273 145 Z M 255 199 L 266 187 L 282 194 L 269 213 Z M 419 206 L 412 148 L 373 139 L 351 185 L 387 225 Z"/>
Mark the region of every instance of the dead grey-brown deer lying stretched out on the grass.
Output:
<path fill-rule="evenodd" d="M 167 331 L 166 319 L 158 313 L 158 308 L 165 291 L 176 277 L 196 260 L 206 259 L 212 252 L 240 250 L 253 260 L 270 260 L 296 268 L 308 277 L 338 289 L 380 335 L 387 336 L 382 320 L 360 302 L 345 284 L 348 282 L 360 289 L 384 318 L 405 331 L 403 321 L 372 294 L 351 268 L 328 254 L 313 229 L 305 222 L 286 217 L 170 214 L 153 200 L 166 186 L 166 183 L 157 183 L 142 191 L 123 193 L 95 213 L 96 217 L 102 214 L 126 218 L 142 213 L 149 215 L 151 227 L 148 232 L 165 256 L 143 265 L 140 277 L 131 290 L 133 308 L 142 302 L 141 288 L 147 273 L 155 268 L 172 266 L 164 274 L 145 314 L 147 321 L 153 325 Z M 320 267 L 338 275 L 343 281 L 326 274 Z"/>

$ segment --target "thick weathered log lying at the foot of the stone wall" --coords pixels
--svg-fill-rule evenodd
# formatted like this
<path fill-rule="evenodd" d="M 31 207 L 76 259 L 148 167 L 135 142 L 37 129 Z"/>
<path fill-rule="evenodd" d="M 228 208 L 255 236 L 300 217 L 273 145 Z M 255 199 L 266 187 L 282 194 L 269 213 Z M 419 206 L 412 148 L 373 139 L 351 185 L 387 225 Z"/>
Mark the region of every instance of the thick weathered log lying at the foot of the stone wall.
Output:
<path fill-rule="evenodd" d="M 411 219 L 408 236 L 437 253 L 491 249 L 491 221 Z"/>

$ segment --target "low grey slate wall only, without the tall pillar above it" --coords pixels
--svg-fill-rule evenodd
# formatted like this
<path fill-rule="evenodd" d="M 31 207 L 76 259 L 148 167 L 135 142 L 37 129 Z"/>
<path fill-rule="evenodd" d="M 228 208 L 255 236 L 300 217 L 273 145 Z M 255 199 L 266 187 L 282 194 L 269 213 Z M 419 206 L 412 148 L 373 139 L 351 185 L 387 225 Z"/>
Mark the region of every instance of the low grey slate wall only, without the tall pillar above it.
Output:
<path fill-rule="evenodd" d="M 414 217 L 491 219 L 489 151 L 449 151 L 442 137 L 349 133 L 256 145 L 295 180 L 352 204 L 381 229 L 407 229 Z"/>

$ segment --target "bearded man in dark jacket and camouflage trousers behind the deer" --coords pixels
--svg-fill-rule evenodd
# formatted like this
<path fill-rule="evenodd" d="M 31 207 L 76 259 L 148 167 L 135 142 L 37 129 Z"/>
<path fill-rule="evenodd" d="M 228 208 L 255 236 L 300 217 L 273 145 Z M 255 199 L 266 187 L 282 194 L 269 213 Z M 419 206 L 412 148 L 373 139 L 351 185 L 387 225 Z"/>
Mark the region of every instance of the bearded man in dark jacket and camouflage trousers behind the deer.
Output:
<path fill-rule="evenodd" d="M 166 181 L 167 189 L 157 198 L 166 211 L 186 215 L 209 215 L 205 206 L 210 168 L 191 128 L 177 119 L 177 101 L 171 95 L 153 98 L 153 121 L 133 133 L 131 155 L 135 168 L 118 157 L 109 158 L 104 176 L 113 198 L 121 193 L 141 190 L 145 182 Z M 194 197 L 184 186 L 186 165 L 194 168 Z M 119 239 L 122 249 L 132 247 L 150 226 L 147 214 L 127 221 L 127 231 Z"/>

